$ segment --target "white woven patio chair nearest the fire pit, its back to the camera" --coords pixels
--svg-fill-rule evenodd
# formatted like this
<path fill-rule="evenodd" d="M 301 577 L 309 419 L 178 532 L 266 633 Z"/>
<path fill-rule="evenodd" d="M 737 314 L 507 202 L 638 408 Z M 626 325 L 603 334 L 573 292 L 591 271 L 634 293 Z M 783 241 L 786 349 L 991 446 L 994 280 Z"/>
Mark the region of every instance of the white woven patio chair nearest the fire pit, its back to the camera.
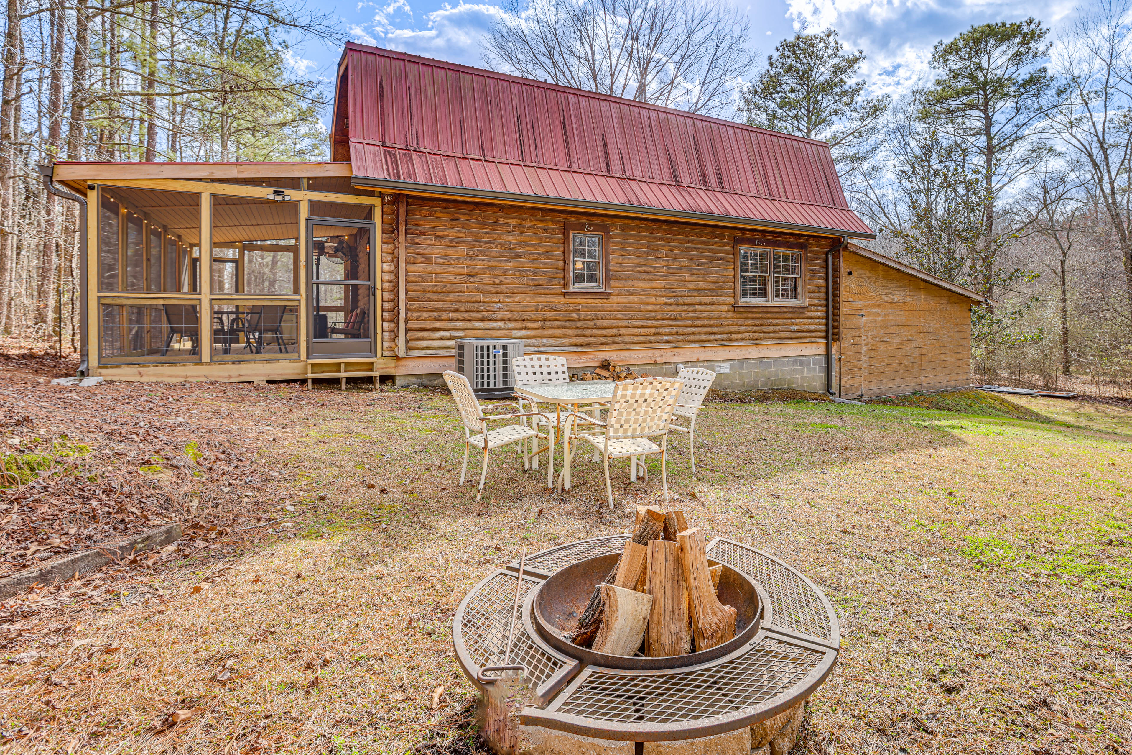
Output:
<path fill-rule="evenodd" d="M 609 482 L 609 460 L 625 456 L 644 457 L 648 454 L 660 454 L 660 478 L 664 488 L 664 499 L 668 499 L 668 426 L 676 409 L 676 398 L 684 386 L 671 378 L 641 378 L 618 383 L 614 388 L 614 398 L 609 404 L 606 421 L 590 419 L 604 432 L 578 432 L 572 438 L 578 438 L 591 444 L 601 453 L 606 470 L 606 495 L 609 507 L 614 507 L 614 488 Z M 660 445 L 650 440 L 661 436 Z M 566 453 L 569 463 L 569 451 Z M 636 460 L 631 461 L 636 464 Z M 648 472 L 648 470 L 646 470 Z M 648 474 L 646 474 L 648 478 Z"/>

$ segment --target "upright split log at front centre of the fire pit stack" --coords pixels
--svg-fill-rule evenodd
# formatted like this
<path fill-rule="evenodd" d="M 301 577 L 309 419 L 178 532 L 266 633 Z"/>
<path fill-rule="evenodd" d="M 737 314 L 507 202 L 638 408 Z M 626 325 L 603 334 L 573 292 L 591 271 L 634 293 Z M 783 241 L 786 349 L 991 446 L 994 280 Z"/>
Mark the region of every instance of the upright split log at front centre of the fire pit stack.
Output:
<path fill-rule="evenodd" d="M 680 546 L 667 540 L 649 543 L 645 592 L 652 595 L 644 654 L 649 658 L 692 652 L 688 595 L 680 567 Z"/>

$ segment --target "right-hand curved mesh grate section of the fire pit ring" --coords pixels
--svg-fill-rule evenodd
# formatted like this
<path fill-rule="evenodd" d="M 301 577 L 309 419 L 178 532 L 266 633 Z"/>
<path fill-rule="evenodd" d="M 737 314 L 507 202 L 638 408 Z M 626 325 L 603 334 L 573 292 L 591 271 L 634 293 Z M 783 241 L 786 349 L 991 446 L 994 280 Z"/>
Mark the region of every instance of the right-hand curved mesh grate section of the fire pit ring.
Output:
<path fill-rule="evenodd" d="M 770 594 L 774 620 L 779 626 L 830 642 L 833 640 L 830 614 L 816 587 L 782 561 L 730 540 L 719 539 L 707 550 L 707 558 L 747 574 Z"/>

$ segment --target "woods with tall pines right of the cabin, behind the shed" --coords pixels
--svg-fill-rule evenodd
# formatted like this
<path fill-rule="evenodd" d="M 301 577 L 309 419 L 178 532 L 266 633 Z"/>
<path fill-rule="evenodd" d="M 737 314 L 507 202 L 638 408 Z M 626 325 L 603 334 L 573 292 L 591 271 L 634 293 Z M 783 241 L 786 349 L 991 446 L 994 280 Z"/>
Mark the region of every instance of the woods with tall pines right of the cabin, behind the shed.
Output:
<path fill-rule="evenodd" d="M 748 123 L 830 143 L 866 242 L 1001 302 L 972 311 L 981 380 L 1132 393 L 1132 9 L 1029 18 L 932 51 L 897 102 L 866 98 L 837 34 L 778 45 Z"/>

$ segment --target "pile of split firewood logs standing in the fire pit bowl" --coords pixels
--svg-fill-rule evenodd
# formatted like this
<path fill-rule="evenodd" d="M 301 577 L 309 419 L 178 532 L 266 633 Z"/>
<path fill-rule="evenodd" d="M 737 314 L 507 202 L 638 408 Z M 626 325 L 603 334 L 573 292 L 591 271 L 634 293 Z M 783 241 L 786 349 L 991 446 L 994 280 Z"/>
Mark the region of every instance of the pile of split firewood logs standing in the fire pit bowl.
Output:
<path fill-rule="evenodd" d="M 735 637 L 737 611 L 715 591 L 704 535 L 684 512 L 637 506 L 633 538 L 598 585 L 568 640 L 599 653 L 685 655 Z"/>

